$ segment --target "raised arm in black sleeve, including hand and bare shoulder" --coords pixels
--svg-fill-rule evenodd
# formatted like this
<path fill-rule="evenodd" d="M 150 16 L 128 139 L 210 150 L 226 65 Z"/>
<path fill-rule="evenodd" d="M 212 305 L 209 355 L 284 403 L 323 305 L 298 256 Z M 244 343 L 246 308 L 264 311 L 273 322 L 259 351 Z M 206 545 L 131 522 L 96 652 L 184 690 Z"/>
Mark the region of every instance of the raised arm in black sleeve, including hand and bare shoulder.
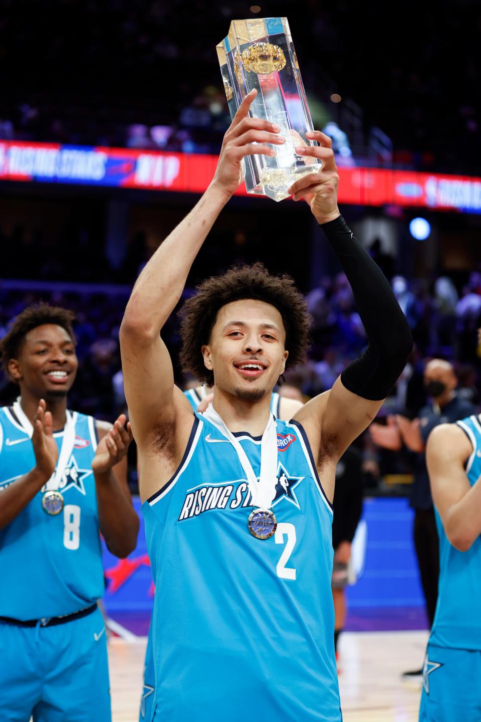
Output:
<path fill-rule="evenodd" d="M 314 131 L 310 137 L 321 147 L 296 149 L 320 157 L 324 166 L 291 187 L 294 200 L 309 204 L 350 282 L 369 345 L 351 363 L 330 391 L 309 401 L 296 419 L 309 426 L 314 447 L 337 458 L 376 417 L 382 401 L 405 367 L 412 336 L 387 279 L 369 253 L 354 238 L 337 207 L 339 177 L 330 138 Z M 337 457 L 337 458 L 336 458 Z"/>

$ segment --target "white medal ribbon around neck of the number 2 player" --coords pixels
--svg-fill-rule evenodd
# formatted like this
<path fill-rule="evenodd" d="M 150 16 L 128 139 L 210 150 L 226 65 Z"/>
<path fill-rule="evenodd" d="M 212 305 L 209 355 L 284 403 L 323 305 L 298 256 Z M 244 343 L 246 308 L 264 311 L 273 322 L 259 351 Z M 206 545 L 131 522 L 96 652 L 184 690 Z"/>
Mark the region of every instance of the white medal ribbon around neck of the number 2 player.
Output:
<path fill-rule="evenodd" d="M 247 458 L 239 440 L 226 427 L 212 404 L 203 413 L 203 416 L 221 432 L 237 451 L 242 469 L 247 477 L 249 491 L 252 497 L 252 506 L 263 509 L 270 509 L 275 497 L 275 485 L 277 484 L 277 429 L 275 419 L 270 414 L 268 425 L 265 427 L 260 443 L 260 479 L 257 481 L 252 464 Z"/>

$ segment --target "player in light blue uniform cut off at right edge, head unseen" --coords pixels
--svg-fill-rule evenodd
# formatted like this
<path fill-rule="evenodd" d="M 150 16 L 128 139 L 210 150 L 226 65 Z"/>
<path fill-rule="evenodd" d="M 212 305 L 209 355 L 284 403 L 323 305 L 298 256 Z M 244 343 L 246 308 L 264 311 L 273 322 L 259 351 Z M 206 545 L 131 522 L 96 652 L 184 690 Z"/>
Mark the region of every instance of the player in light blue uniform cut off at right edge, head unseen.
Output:
<path fill-rule="evenodd" d="M 481 720 L 481 425 L 441 424 L 426 448 L 439 534 L 436 614 L 420 722 Z"/>

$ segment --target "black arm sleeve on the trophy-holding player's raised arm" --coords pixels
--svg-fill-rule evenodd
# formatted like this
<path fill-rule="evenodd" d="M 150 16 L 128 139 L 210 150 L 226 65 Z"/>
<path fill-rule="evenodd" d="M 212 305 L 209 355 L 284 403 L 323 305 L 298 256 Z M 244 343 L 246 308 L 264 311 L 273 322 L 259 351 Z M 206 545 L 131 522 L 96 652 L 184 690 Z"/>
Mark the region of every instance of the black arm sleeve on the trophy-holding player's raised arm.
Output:
<path fill-rule="evenodd" d="M 342 216 L 320 226 L 353 290 L 368 347 L 341 374 L 343 386 L 363 399 L 385 399 L 405 367 L 412 335 L 386 277 Z"/>

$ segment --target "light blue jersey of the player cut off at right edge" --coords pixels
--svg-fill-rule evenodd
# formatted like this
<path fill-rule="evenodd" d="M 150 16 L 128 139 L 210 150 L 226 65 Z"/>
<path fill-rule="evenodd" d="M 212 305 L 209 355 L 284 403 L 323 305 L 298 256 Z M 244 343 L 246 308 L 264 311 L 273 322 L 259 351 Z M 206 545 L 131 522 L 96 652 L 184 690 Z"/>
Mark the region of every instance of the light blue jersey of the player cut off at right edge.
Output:
<path fill-rule="evenodd" d="M 481 474 L 480 419 L 470 416 L 456 422 L 472 443 L 467 461 L 469 483 L 475 484 Z M 441 517 L 436 510 L 439 534 L 439 587 L 430 643 L 441 647 L 481 651 L 481 539 L 467 552 L 459 552 L 450 544 Z"/>

